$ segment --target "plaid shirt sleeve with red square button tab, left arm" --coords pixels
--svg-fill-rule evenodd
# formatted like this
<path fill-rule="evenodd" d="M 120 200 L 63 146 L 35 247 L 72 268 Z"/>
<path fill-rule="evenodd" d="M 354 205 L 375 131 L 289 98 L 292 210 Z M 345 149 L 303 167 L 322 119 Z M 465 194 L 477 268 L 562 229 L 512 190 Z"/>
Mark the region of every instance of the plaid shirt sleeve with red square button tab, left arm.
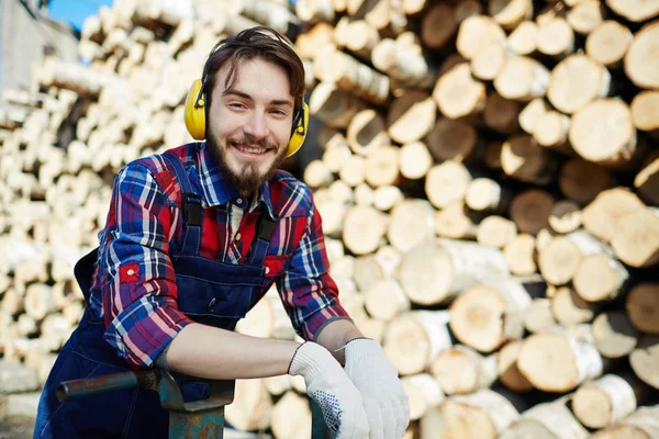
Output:
<path fill-rule="evenodd" d="M 104 338 L 136 368 L 152 367 L 191 323 L 177 306 L 169 258 L 172 210 L 145 166 L 132 164 L 118 175 L 99 258 Z"/>

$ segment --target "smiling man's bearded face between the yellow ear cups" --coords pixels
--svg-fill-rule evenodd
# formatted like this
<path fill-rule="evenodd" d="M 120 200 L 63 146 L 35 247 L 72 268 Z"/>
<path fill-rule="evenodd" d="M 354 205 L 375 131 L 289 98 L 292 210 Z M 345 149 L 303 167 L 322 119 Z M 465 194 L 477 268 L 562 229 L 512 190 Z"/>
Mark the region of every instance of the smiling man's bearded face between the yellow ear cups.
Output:
<path fill-rule="evenodd" d="M 228 67 L 219 71 L 206 127 L 217 166 L 243 194 L 253 194 L 286 158 L 293 121 L 289 78 L 276 64 L 244 60 L 226 89 Z"/>

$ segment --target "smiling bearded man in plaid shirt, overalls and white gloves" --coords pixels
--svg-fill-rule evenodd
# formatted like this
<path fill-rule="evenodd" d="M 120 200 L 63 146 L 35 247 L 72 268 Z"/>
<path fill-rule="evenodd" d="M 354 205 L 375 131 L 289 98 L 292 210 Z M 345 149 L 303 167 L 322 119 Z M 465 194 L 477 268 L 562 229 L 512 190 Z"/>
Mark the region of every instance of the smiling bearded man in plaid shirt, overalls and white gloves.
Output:
<path fill-rule="evenodd" d="M 303 93 L 302 63 L 277 32 L 246 30 L 213 48 L 186 113 L 205 142 L 116 177 L 98 255 L 77 267 L 85 316 L 44 386 L 35 438 L 167 437 L 153 391 L 55 397 L 62 381 L 155 365 L 211 380 L 302 375 L 338 438 L 404 435 L 407 398 L 338 302 L 311 191 L 277 170 L 303 142 Z M 309 341 L 233 331 L 273 282 Z M 182 387 L 188 399 L 206 390 Z"/>

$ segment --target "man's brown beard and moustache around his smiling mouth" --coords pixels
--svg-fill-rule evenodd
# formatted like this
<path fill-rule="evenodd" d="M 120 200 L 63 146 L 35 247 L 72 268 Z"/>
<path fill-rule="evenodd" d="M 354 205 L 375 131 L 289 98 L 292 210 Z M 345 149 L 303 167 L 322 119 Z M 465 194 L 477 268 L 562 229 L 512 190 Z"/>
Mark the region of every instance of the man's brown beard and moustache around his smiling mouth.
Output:
<path fill-rule="evenodd" d="M 275 176 L 279 166 L 286 159 L 288 147 L 277 147 L 277 144 L 268 142 L 267 139 L 256 139 L 249 135 L 235 135 L 228 136 L 224 142 L 219 140 L 216 136 L 210 132 L 206 137 L 206 146 L 215 159 L 215 164 L 220 168 L 222 175 L 228 180 L 228 182 L 244 196 L 254 194 L 258 189 L 268 180 Z M 261 148 L 268 148 L 268 150 L 277 150 L 275 160 L 270 167 L 261 172 L 258 164 L 241 164 L 239 169 L 233 169 L 227 159 L 228 148 L 234 148 L 235 145 L 257 145 Z"/>

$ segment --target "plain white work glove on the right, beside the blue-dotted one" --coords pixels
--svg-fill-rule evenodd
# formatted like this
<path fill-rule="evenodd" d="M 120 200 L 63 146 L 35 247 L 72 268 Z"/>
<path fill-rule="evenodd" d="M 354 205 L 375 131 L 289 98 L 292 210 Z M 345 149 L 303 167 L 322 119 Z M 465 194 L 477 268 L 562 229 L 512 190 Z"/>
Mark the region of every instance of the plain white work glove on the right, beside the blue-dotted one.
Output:
<path fill-rule="evenodd" d="M 400 439 L 410 424 L 410 402 L 398 371 L 376 340 L 348 341 L 346 373 L 361 392 L 370 439 Z"/>

